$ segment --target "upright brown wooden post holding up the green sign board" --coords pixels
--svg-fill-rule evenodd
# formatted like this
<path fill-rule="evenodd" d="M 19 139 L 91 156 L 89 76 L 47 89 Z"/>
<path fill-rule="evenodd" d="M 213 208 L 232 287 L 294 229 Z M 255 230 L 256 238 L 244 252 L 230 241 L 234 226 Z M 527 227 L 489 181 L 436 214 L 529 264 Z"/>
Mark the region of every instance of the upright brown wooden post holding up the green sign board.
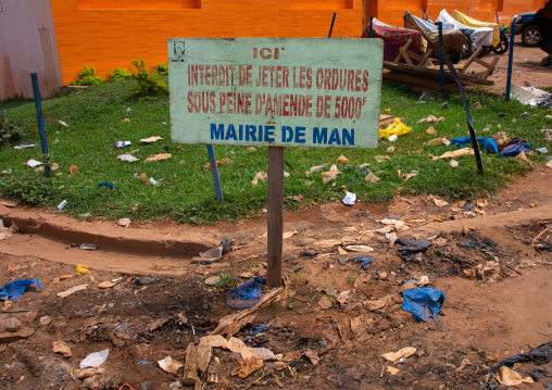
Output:
<path fill-rule="evenodd" d="M 268 147 L 268 222 L 266 284 L 281 285 L 281 249 L 284 246 L 284 156 L 286 148 Z"/>

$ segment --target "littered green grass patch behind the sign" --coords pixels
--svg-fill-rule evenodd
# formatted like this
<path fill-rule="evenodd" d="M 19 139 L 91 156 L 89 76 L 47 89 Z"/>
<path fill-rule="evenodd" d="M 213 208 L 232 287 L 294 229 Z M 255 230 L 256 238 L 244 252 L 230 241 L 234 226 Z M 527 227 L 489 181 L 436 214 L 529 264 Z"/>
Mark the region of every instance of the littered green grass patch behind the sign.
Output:
<path fill-rule="evenodd" d="M 161 79 L 166 81 L 166 76 Z M 247 147 L 216 147 L 218 160 L 231 161 L 231 164 L 219 167 L 225 202 L 218 204 L 211 172 L 202 169 L 209 162 L 205 147 L 184 144 L 177 148 L 171 141 L 168 97 L 128 100 L 126 97 L 136 86 L 136 80 L 105 83 L 42 101 L 50 160 L 60 168 L 46 178 L 24 165 L 28 159 L 41 160 L 39 146 L 23 150 L 13 149 L 14 142 L 3 146 L 0 148 L 0 171 L 11 169 L 11 173 L 0 175 L 0 194 L 46 207 L 54 207 L 67 200 L 63 212 L 75 217 L 90 213 L 109 219 L 131 217 L 135 221 L 204 224 L 237 222 L 262 214 L 267 198 L 266 183 L 252 186 L 251 180 L 258 172 L 267 171 L 267 148 L 249 151 Z M 364 202 L 388 202 L 399 191 L 432 193 L 449 200 L 469 199 L 480 193 L 493 193 L 512 177 L 531 168 L 515 159 L 482 155 L 485 177 L 481 177 L 477 174 L 474 158 L 460 159 L 456 168 L 452 168 L 449 161 L 432 161 L 428 154 L 440 155 L 450 148 L 424 146 L 424 140 L 467 135 L 460 97 L 449 97 L 449 109 L 444 109 L 438 97 L 417 104 L 419 93 L 405 87 L 384 85 L 381 92 L 381 111 L 391 109 L 392 114 L 406 118 L 413 128 L 392 143 L 396 151 L 391 160 L 377 163 L 373 159 L 376 154 L 385 154 L 391 146 L 386 140 L 375 150 L 287 148 L 286 161 L 301 172 L 285 179 L 288 210 L 312 202 L 340 200 L 343 197 L 339 190 L 341 186 L 347 186 Z M 550 127 L 544 109 L 525 106 L 515 100 L 505 102 L 485 93 L 475 93 L 468 99 L 471 104 L 476 101 L 481 104 L 480 110 L 472 112 L 478 137 L 507 131 L 510 136 L 527 139 L 534 149 L 545 146 L 539 131 Z M 12 123 L 22 129 L 18 143 L 39 143 L 33 101 L 2 102 L 1 110 L 5 110 Z M 523 116 L 524 112 L 528 115 Z M 425 134 L 428 124 L 415 124 L 430 114 L 447 118 L 434 125 L 437 136 Z M 123 122 L 126 117 L 130 122 Z M 60 119 L 68 127 L 62 126 Z M 492 125 L 491 129 L 482 131 L 488 124 Z M 151 136 L 164 139 L 140 143 L 140 139 Z M 131 141 L 133 144 L 118 149 L 115 148 L 117 140 Z M 116 159 L 118 154 L 137 149 L 139 151 L 134 155 L 140 159 L 138 162 Z M 419 149 L 424 149 L 423 154 L 409 154 Z M 167 151 L 172 153 L 171 160 L 146 162 L 149 155 Z M 344 154 L 350 163 L 339 165 L 342 174 L 334 181 L 335 186 L 325 185 L 319 172 L 311 178 L 303 175 L 311 166 L 335 162 L 340 154 Z M 531 160 L 543 163 L 544 156 L 535 154 Z M 357 167 L 362 163 L 372 164 L 371 169 L 381 179 L 378 184 L 366 184 L 366 174 Z M 79 168 L 77 174 L 70 175 L 72 164 Z M 398 176 L 398 169 L 402 173 L 416 169 L 419 175 L 404 183 Z M 286 171 L 291 172 L 288 167 Z M 137 176 L 142 173 L 159 180 L 159 185 L 149 186 L 138 180 Z M 114 184 L 116 188 L 98 187 L 102 181 Z M 297 194 L 304 197 L 301 205 L 290 200 Z"/>

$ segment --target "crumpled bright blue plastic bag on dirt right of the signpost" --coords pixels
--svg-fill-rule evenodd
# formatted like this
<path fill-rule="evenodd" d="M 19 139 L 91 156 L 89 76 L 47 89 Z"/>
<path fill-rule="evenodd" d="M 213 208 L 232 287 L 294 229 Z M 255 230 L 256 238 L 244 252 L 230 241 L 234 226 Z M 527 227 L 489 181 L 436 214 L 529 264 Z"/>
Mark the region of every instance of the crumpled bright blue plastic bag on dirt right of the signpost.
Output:
<path fill-rule="evenodd" d="M 402 310 L 412 313 L 414 319 L 427 322 L 432 314 L 434 320 L 437 322 L 437 313 L 444 303 L 444 294 L 442 291 L 430 287 L 422 287 L 417 289 L 406 290 L 403 293 L 404 302 Z"/>

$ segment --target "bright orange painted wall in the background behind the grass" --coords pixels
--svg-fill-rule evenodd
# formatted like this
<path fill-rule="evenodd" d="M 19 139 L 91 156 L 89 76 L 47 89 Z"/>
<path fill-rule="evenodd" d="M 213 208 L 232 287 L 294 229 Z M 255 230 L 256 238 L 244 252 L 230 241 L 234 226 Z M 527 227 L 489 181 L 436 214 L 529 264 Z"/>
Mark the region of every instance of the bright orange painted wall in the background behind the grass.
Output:
<path fill-rule="evenodd" d="M 333 37 L 362 34 L 362 3 L 382 22 L 402 26 L 407 8 L 431 18 L 456 7 L 473 17 L 510 23 L 516 13 L 537 11 L 545 0 L 51 0 L 63 83 L 78 77 L 85 65 L 106 76 L 143 59 L 149 67 L 166 63 L 166 40 L 175 37 Z M 447 7 L 444 5 L 447 3 Z M 369 17 L 369 15 L 367 15 Z M 323 55 L 323 53 L 321 53 Z"/>

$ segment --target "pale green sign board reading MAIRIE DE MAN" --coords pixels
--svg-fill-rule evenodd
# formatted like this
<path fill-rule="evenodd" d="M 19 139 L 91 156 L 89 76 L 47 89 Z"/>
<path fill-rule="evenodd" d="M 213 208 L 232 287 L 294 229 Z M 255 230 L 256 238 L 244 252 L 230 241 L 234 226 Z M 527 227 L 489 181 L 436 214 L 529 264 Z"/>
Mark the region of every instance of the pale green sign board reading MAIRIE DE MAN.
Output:
<path fill-rule="evenodd" d="M 382 41 L 168 40 L 179 143 L 376 148 Z"/>

